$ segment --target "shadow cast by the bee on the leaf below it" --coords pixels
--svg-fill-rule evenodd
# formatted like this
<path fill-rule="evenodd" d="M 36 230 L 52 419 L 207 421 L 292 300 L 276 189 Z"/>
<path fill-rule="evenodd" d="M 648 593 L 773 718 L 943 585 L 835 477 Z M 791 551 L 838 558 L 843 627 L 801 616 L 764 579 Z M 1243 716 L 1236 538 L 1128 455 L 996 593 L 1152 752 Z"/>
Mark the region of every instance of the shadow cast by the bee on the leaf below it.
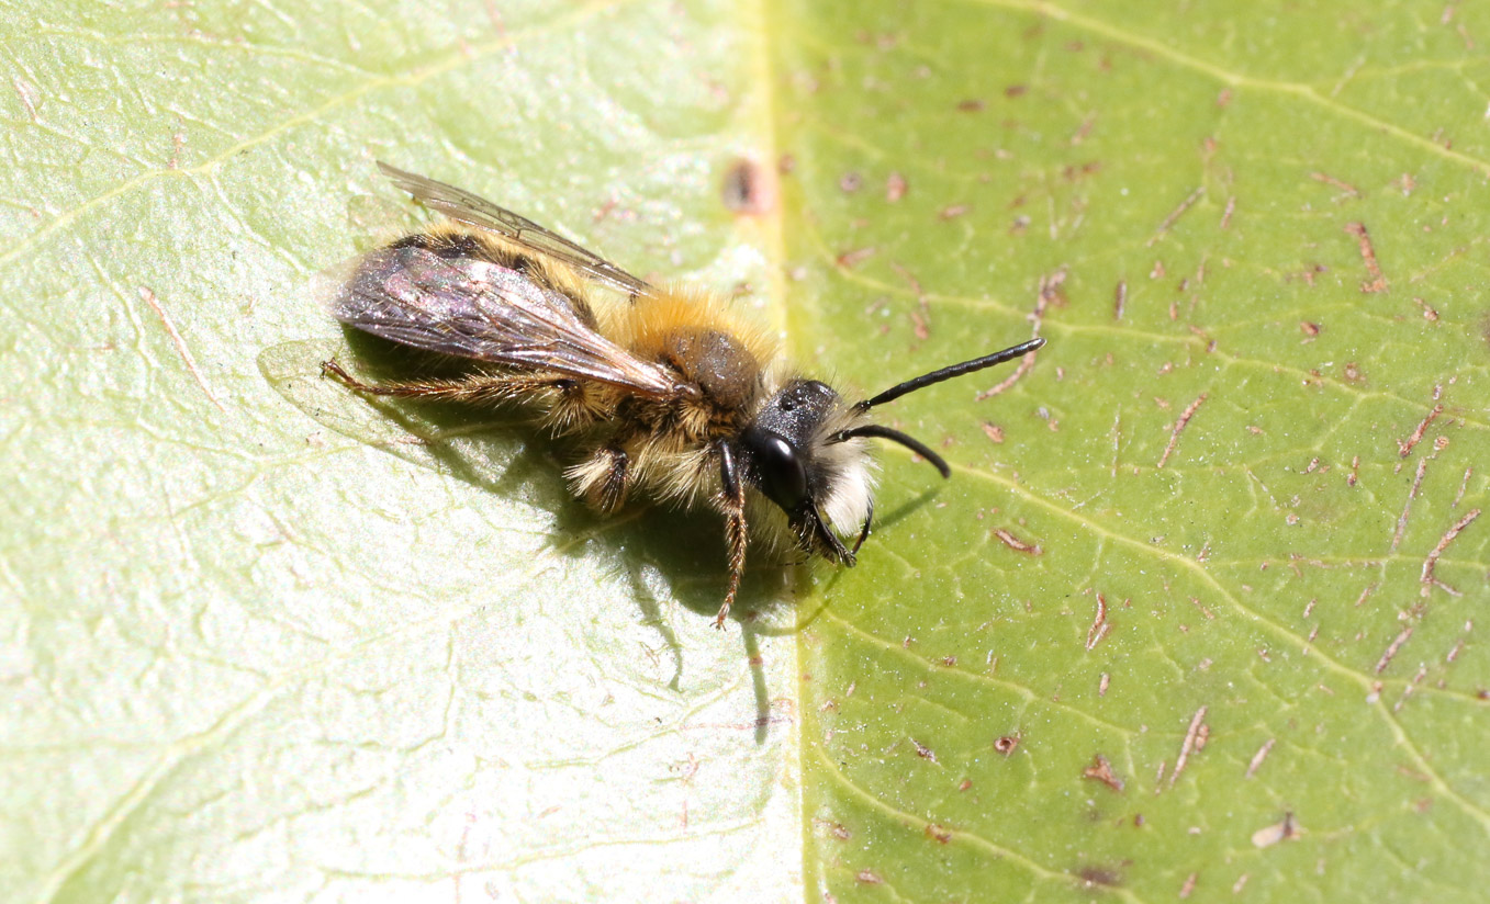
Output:
<path fill-rule="evenodd" d="M 642 623 L 660 634 L 672 658 L 669 687 L 681 688 L 684 652 L 669 618 L 669 602 L 700 617 L 712 617 L 718 609 L 727 551 L 717 514 L 702 506 L 632 503 L 615 515 L 599 515 L 571 496 L 565 484 L 568 444 L 535 429 L 533 418 L 520 408 L 367 399 L 322 377 L 320 363 L 332 357 L 377 380 L 456 377 L 468 372 L 469 362 L 410 350 L 358 331 L 347 331 L 343 343 L 283 343 L 258 357 L 259 371 L 274 390 L 328 430 L 550 512 L 554 518 L 550 550 L 565 557 L 599 556 L 624 578 Z M 897 515 L 891 512 L 882 523 L 893 523 Z M 758 636 L 800 630 L 806 614 L 790 603 L 794 588 L 811 579 L 809 569 L 794 563 L 757 558 L 746 570 L 738 624 L 754 672 L 757 740 L 764 739 L 770 718 Z"/>

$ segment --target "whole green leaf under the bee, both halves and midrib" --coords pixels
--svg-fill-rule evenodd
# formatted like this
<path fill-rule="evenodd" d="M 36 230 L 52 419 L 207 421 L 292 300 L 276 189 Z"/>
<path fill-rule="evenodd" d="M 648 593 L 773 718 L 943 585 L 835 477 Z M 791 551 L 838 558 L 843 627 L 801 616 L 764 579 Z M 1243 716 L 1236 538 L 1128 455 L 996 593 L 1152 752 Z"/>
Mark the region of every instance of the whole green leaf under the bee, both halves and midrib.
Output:
<path fill-rule="evenodd" d="M 1490 879 L 1484 10 L 3 22 L 0 898 Z M 1049 344 L 887 405 L 952 481 L 887 447 L 860 566 L 758 567 L 721 636 L 715 518 L 602 521 L 508 416 L 319 378 L 408 363 L 316 295 L 425 219 L 374 159 L 845 392 Z"/>

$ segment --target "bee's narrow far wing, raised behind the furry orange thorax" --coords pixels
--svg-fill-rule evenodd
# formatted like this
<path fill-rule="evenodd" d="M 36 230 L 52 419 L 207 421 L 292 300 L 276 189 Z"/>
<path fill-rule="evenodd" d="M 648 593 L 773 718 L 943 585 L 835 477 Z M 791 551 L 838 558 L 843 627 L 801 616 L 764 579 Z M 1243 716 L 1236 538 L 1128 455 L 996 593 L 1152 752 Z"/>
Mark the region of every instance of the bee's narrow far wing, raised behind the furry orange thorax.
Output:
<path fill-rule="evenodd" d="M 519 216 L 505 207 L 498 207 L 486 198 L 472 195 L 471 192 L 459 189 L 453 185 L 446 185 L 444 182 L 435 182 L 434 179 L 426 179 L 425 176 L 405 173 L 404 170 L 390 167 L 383 161 L 378 161 L 377 165 L 383 170 L 383 174 L 393 182 L 393 185 L 414 195 L 414 198 L 426 207 L 438 210 L 450 219 L 460 220 L 462 223 L 478 226 L 481 229 L 492 229 L 510 241 L 568 264 L 590 280 L 609 286 L 611 289 L 618 289 L 627 295 L 644 298 L 656 292 L 656 289 L 653 289 L 653 286 L 650 286 L 645 280 L 626 273 L 605 258 L 580 247 L 563 235 L 550 232 L 524 216 Z"/>

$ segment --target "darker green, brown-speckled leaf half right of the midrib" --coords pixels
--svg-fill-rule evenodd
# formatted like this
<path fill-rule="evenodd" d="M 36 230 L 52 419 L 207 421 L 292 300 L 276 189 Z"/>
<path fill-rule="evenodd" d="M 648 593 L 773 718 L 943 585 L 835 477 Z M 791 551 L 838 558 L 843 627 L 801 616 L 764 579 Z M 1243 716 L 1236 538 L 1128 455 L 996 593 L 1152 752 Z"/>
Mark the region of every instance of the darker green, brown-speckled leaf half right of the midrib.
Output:
<path fill-rule="evenodd" d="M 802 636 L 809 897 L 1483 894 L 1490 19 L 1322 6 L 794 7 L 797 335 L 1049 340 L 891 410 L 957 474 Z"/>

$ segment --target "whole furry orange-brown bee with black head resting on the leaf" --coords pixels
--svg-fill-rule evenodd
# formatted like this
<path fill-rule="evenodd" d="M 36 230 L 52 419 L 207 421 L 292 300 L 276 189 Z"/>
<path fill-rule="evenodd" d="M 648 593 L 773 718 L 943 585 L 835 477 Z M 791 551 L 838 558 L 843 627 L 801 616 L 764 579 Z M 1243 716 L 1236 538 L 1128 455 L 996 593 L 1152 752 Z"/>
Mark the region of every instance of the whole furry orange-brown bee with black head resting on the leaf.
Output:
<path fill-rule="evenodd" d="M 575 439 L 580 454 L 565 477 L 600 512 L 635 493 L 706 502 L 724 518 L 729 548 L 720 628 L 752 535 L 855 563 L 875 512 L 869 441 L 897 442 L 951 477 L 924 442 L 875 423 L 875 408 L 1044 344 L 1034 338 L 849 402 L 782 363 L 770 338 L 720 298 L 653 286 L 477 195 L 378 167 L 447 220 L 364 256 L 334 295 L 332 314 L 478 366 L 453 380 L 392 384 L 359 381 L 335 360 L 323 372 L 374 396 L 526 404 L 551 432 Z"/>

